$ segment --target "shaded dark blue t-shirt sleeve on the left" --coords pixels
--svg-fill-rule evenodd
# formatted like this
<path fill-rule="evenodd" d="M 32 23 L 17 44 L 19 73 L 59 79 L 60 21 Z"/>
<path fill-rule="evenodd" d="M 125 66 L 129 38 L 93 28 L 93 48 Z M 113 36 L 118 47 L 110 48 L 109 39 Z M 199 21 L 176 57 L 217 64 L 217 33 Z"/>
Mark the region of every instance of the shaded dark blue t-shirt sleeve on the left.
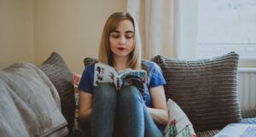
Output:
<path fill-rule="evenodd" d="M 79 83 L 79 90 L 92 94 L 94 65 L 87 66 Z"/>

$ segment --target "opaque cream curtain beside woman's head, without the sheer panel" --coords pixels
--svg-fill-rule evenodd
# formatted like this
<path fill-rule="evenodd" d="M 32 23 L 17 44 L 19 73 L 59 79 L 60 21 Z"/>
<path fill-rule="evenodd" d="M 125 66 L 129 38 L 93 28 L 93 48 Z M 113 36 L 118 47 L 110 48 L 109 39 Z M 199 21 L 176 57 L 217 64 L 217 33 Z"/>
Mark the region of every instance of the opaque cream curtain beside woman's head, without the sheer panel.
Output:
<path fill-rule="evenodd" d="M 137 19 L 145 59 L 176 56 L 173 0 L 127 0 L 127 11 Z"/>

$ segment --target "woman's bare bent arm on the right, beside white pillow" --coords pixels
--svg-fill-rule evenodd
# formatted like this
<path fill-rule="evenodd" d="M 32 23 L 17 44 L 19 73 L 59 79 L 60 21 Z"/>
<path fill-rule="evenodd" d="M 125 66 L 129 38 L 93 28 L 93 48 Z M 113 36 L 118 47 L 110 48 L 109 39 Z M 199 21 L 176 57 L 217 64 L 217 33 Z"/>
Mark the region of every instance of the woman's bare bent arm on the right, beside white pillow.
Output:
<path fill-rule="evenodd" d="M 155 123 L 168 123 L 168 110 L 166 106 L 166 94 L 163 86 L 149 89 L 151 94 L 152 108 L 148 108 Z"/>

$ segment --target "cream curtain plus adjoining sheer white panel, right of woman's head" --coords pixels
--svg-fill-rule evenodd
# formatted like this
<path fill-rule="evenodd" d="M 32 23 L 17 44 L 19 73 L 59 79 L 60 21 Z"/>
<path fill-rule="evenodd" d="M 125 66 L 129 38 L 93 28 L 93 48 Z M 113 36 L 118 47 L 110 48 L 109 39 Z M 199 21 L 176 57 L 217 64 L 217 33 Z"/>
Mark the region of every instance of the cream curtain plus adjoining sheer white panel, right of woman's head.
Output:
<path fill-rule="evenodd" d="M 127 11 L 134 14 L 140 29 L 145 59 L 157 54 L 180 59 L 193 56 L 196 43 L 195 1 L 127 0 Z M 194 17 L 193 20 L 189 15 Z"/>

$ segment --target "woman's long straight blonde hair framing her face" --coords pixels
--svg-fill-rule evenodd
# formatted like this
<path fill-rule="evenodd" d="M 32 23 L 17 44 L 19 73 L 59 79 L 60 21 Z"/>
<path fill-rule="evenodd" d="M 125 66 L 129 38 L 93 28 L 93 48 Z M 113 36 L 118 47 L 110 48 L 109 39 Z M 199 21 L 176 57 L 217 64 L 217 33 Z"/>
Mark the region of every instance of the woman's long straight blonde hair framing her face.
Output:
<path fill-rule="evenodd" d="M 127 12 L 117 12 L 108 17 L 102 31 L 102 40 L 99 49 L 99 61 L 113 66 L 113 53 L 110 49 L 109 37 L 110 33 L 115 31 L 122 20 L 131 20 L 134 26 L 134 49 L 131 51 L 128 66 L 132 69 L 142 69 L 142 44 L 139 37 L 139 30 L 136 21 L 131 14 Z"/>

